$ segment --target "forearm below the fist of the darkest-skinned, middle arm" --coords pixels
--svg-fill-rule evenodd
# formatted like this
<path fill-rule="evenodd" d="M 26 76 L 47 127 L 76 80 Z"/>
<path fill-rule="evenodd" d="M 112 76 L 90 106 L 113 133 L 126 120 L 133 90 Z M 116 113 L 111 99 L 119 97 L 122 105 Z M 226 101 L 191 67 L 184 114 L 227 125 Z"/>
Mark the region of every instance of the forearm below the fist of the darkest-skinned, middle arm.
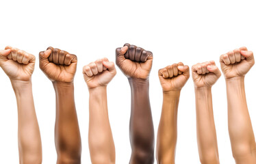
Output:
<path fill-rule="evenodd" d="M 149 80 L 129 79 L 131 86 L 131 163 L 153 162 L 154 128 L 149 102 Z"/>

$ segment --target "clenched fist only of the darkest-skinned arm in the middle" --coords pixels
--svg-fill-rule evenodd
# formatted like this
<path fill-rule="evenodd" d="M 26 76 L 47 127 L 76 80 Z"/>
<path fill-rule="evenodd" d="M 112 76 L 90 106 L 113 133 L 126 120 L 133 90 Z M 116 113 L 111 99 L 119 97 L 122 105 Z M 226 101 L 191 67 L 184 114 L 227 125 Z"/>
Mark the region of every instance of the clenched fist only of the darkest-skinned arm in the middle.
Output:
<path fill-rule="evenodd" d="M 140 47 L 127 43 L 116 49 L 116 65 L 128 78 L 149 78 L 152 61 L 153 54 Z"/>

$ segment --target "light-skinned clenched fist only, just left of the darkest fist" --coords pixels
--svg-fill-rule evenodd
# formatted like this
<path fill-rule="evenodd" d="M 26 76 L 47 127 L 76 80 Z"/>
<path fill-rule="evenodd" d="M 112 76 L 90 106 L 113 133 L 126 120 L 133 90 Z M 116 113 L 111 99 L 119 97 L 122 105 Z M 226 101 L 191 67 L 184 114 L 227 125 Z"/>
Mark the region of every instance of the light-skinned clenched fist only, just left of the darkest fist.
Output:
<path fill-rule="evenodd" d="M 97 59 L 97 61 L 84 66 L 84 80 L 88 88 L 106 86 L 116 75 L 114 62 L 108 61 L 107 58 Z"/>

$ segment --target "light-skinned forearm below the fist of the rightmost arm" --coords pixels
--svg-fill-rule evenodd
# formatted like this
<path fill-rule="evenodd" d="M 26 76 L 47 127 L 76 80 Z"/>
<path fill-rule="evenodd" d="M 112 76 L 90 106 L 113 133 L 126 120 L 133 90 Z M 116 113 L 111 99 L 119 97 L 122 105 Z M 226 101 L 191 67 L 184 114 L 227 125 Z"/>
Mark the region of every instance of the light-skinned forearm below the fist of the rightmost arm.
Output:
<path fill-rule="evenodd" d="M 233 156 L 246 156 L 254 152 L 255 137 L 246 105 L 244 77 L 226 80 L 229 117 L 229 137 Z M 256 157 L 255 157 L 256 158 Z"/>

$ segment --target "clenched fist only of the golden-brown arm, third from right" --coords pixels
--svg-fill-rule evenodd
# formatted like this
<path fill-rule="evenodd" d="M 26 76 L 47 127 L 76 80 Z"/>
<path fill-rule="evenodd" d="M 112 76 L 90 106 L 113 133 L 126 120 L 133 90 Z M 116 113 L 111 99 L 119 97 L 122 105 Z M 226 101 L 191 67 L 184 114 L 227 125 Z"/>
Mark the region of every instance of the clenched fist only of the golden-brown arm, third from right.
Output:
<path fill-rule="evenodd" d="M 158 77 L 164 92 L 181 90 L 190 78 L 190 68 L 179 62 L 160 69 Z"/>

